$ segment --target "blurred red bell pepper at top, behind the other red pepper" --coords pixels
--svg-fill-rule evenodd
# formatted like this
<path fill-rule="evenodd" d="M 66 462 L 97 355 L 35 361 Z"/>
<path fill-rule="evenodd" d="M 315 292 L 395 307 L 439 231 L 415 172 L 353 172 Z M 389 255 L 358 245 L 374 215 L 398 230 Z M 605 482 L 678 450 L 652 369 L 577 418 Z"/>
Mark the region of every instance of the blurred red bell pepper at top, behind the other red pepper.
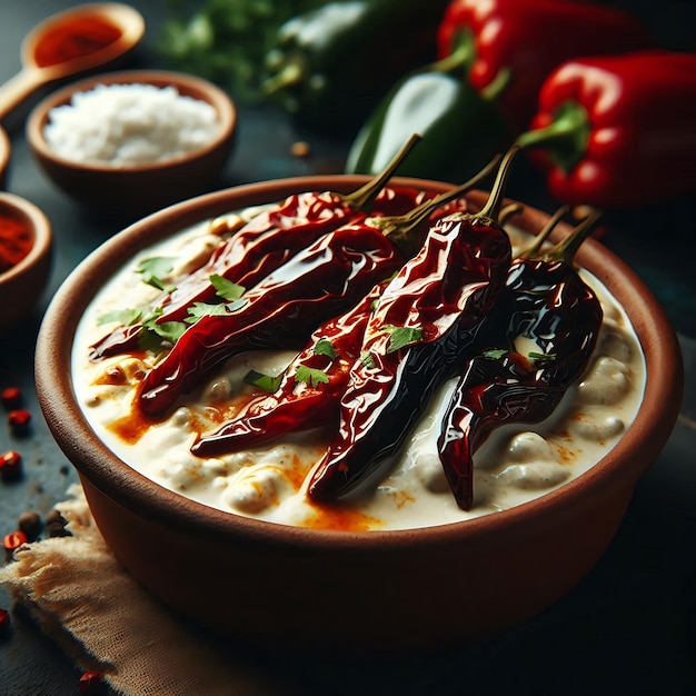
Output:
<path fill-rule="evenodd" d="M 463 42 L 471 49 L 471 87 L 499 99 L 515 135 L 529 125 L 544 79 L 561 62 L 650 46 L 630 14 L 565 0 L 454 0 L 438 29 L 439 58 Z"/>

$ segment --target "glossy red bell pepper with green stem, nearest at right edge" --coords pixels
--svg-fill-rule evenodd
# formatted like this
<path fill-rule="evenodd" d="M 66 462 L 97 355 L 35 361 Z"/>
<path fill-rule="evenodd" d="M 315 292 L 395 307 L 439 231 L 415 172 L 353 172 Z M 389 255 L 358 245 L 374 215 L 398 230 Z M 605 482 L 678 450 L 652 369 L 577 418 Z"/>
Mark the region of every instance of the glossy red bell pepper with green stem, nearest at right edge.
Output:
<path fill-rule="evenodd" d="M 530 128 L 518 143 L 561 202 L 624 208 L 696 191 L 696 54 L 569 61 L 544 83 Z"/>

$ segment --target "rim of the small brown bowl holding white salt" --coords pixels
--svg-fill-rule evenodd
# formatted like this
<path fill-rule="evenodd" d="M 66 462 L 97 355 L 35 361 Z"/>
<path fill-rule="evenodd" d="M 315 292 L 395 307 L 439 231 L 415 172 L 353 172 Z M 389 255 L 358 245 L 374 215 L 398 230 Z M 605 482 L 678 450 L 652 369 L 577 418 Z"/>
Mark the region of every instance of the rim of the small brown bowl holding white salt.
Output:
<path fill-rule="evenodd" d="M 178 155 L 158 162 L 128 165 L 122 167 L 80 162 L 62 157 L 49 147 L 43 136 L 43 128 L 49 120 L 51 109 L 69 103 L 72 95 L 76 92 L 90 91 L 98 84 L 105 84 L 108 87 L 111 84 L 133 83 L 155 84 L 156 87 L 172 86 L 176 87 L 177 91 L 180 93 L 186 95 L 188 92 L 193 92 L 198 95 L 193 98 L 206 101 L 216 110 L 220 126 L 218 132 L 212 140 L 195 150 L 191 150 L 190 152 Z M 183 90 L 183 92 L 181 90 Z M 156 173 L 158 171 L 167 171 L 176 167 L 197 162 L 217 149 L 226 147 L 231 140 L 237 127 L 237 107 L 231 97 L 229 97 L 221 88 L 203 78 L 173 70 L 121 70 L 116 72 L 103 72 L 83 78 L 48 95 L 31 110 L 27 119 L 26 135 L 30 147 L 33 148 L 40 157 L 66 169 L 93 172 L 96 175 L 105 173 L 109 176 L 117 176 L 120 173 L 123 176 L 147 175 Z"/>

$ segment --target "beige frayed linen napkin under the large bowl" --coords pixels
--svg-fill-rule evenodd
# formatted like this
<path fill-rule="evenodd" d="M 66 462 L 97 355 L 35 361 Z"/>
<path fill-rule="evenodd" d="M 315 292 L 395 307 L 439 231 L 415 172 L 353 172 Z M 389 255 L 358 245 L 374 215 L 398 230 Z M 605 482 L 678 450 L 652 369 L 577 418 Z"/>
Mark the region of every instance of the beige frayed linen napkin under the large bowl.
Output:
<path fill-rule="evenodd" d="M 0 583 L 80 668 L 126 696 L 287 693 L 160 606 L 111 555 L 81 488 L 70 494 L 56 507 L 72 536 L 18 549 Z"/>

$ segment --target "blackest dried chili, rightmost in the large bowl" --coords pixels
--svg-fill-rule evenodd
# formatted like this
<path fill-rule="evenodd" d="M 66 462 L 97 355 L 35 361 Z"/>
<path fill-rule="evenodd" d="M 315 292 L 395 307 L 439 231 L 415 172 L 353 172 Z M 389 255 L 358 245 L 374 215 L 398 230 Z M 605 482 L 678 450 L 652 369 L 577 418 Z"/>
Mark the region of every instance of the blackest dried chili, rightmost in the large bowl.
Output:
<path fill-rule="evenodd" d="M 474 453 L 504 424 L 550 416 L 585 371 L 597 341 L 601 305 L 573 267 L 573 257 L 598 216 L 587 218 L 551 251 L 538 253 L 557 217 L 513 261 L 500 297 L 503 316 L 491 317 L 498 338 L 468 360 L 447 407 L 438 453 L 465 510 L 474 503 Z M 534 341 L 538 352 L 518 352 L 518 337 Z"/>

